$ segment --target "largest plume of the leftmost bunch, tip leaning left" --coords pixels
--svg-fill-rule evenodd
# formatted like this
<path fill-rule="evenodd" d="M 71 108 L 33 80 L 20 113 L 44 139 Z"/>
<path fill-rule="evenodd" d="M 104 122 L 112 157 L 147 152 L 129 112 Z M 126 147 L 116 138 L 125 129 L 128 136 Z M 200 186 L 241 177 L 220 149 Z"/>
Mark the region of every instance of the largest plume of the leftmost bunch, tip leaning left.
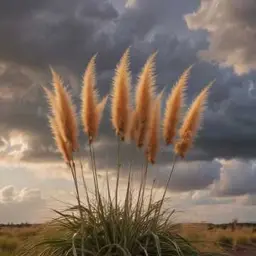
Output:
<path fill-rule="evenodd" d="M 52 68 L 51 72 L 55 91 L 55 120 L 65 143 L 69 143 L 72 151 L 76 151 L 78 149 L 78 128 L 75 107 L 60 76 Z"/>

